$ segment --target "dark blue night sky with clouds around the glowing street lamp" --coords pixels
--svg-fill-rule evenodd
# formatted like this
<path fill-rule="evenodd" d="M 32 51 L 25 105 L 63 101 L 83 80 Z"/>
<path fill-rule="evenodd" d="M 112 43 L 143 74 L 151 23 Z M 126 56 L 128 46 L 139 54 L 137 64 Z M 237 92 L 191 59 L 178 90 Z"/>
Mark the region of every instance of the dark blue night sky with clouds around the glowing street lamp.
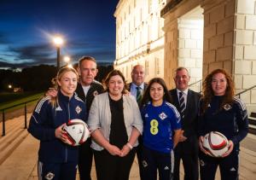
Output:
<path fill-rule="evenodd" d="M 56 63 L 52 36 L 65 39 L 61 55 L 98 62 L 115 58 L 119 0 L 0 0 L 0 68 Z"/>

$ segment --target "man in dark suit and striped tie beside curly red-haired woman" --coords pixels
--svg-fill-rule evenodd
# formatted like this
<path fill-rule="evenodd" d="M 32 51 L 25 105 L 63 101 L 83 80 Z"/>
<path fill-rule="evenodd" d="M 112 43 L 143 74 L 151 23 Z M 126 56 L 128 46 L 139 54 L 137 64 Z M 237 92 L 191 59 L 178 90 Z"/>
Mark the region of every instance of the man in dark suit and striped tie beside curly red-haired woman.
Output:
<path fill-rule="evenodd" d="M 181 114 L 182 136 L 174 149 L 174 178 L 179 180 L 180 160 L 183 160 L 184 179 L 198 179 L 198 140 L 196 136 L 198 103 L 201 95 L 189 90 L 189 72 L 178 67 L 174 82 L 176 89 L 170 90 L 173 104 Z"/>

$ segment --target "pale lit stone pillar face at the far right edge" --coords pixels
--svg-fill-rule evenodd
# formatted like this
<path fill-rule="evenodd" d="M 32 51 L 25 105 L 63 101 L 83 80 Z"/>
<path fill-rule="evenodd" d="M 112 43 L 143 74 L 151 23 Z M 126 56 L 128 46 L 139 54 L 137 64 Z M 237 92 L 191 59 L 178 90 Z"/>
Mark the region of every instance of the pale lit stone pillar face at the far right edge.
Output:
<path fill-rule="evenodd" d="M 234 79 L 236 92 L 256 85 L 256 3 L 236 0 Z M 248 111 L 256 111 L 256 90 L 241 95 Z"/>

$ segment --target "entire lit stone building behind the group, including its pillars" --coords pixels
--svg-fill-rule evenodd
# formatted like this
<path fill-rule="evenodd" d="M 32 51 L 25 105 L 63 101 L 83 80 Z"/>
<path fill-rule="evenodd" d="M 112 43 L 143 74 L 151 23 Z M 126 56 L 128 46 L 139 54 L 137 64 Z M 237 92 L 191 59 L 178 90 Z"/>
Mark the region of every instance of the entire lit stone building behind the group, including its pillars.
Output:
<path fill-rule="evenodd" d="M 129 8 L 132 3 L 137 3 L 137 8 Z M 145 10 L 149 4 L 158 7 L 153 15 Z M 147 11 L 149 16 L 138 9 Z M 122 44 L 134 35 L 126 32 L 128 36 L 119 38 L 123 26 L 127 26 L 123 25 L 124 20 L 129 15 L 137 19 L 140 13 L 144 19 L 138 19 L 137 23 L 142 27 L 138 28 L 140 32 L 133 41 L 141 42 L 140 37 L 145 34 L 151 36 L 154 15 L 160 22 L 158 39 L 163 36 L 163 40 L 146 38 L 133 51 L 127 50 Z M 147 68 L 146 80 L 159 76 L 166 80 L 169 88 L 174 86 L 173 71 L 179 66 L 188 67 L 191 83 L 203 79 L 213 69 L 224 68 L 235 80 L 236 93 L 256 84 L 256 0 L 120 0 L 115 17 L 117 55 L 114 67 L 125 73 L 128 80 L 131 80 L 131 67 L 142 64 Z M 143 28 L 144 25 L 148 28 Z M 135 28 L 135 31 L 138 30 Z M 158 50 L 153 50 L 154 42 L 158 42 Z M 119 53 L 125 50 L 125 54 Z M 159 56 L 154 56 L 154 52 L 159 52 Z M 156 73 L 158 69 L 160 73 Z M 195 84 L 193 88 L 199 86 Z M 256 110 L 255 89 L 243 93 L 241 98 L 249 112 Z"/>

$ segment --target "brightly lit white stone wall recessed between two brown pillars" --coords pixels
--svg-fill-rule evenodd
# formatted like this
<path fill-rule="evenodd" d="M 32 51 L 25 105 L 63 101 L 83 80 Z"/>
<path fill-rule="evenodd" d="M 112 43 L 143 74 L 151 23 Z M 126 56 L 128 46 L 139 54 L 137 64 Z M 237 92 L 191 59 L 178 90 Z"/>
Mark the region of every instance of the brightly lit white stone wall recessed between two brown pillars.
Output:
<path fill-rule="evenodd" d="M 189 70 L 190 82 L 193 84 L 202 78 L 202 46 L 203 46 L 203 19 L 202 9 L 194 9 L 193 15 L 184 15 L 178 19 L 177 66 Z M 199 14 L 197 17 L 195 14 Z M 189 87 L 201 91 L 201 84 Z"/>

